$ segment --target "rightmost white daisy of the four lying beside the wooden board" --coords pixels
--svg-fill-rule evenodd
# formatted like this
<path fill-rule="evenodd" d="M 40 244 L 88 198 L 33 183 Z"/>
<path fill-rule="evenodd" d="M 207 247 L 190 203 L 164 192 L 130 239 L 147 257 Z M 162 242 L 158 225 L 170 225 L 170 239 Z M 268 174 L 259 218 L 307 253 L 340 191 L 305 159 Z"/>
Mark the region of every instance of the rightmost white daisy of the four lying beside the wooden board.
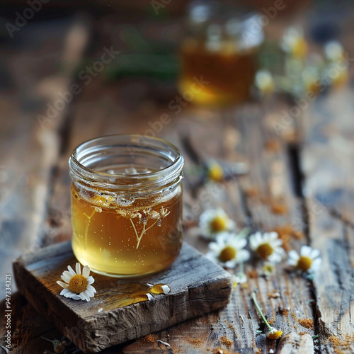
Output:
<path fill-rule="evenodd" d="M 294 265 L 295 268 L 307 273 L 316 273 L 321 267 L 321 262 L 319 250 L 312 249 L 309 246 L 302 246 L 300 254 L 294 250 L 290 251 L 287 260 L 288 264 Z"/>

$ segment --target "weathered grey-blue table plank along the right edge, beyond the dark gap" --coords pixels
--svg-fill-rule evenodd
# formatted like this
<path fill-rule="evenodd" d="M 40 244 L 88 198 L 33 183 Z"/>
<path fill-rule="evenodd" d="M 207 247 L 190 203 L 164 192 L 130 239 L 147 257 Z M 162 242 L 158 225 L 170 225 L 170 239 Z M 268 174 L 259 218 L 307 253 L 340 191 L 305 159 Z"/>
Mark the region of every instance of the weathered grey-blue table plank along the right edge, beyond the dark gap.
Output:
<path fill-rule="evenodd" d="M 321 251 L 314 278 L 321 353 L 353 353 L 353 90 L 335 92 L 304 115 L 302 171 L 309 239 Z"/>

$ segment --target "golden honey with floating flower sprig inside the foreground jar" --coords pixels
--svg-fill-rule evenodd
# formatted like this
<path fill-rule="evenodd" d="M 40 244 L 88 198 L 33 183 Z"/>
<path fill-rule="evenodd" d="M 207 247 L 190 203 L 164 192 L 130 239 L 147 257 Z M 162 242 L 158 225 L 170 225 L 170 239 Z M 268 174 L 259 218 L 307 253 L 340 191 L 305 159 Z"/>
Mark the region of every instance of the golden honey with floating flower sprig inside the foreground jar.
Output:
<path fill-rule="evenodd" d="M 144 154 L 147 152 L 138 159 Z M 175 171 L 172 181 L 170 178 L 165 184 L 161 183 L 161 178 L 166 182 L 165 169 L 151 167 L 146 172 L 146 167 L 133 163 L 134 159 L 129 167 L 118 164 L 115 173 L 103 175 L 111 188 L 92 183 L 94 170 L 87 181 L 72 173 L 72 249 L 78 261 L 93 272 L 115 277 L 156 273 L 171 265 L 181 250 L 181 171 Z M 105 159 L 101 164 L 104 166 Z M 98 179 L 100 173 L 97 171 Z"/>

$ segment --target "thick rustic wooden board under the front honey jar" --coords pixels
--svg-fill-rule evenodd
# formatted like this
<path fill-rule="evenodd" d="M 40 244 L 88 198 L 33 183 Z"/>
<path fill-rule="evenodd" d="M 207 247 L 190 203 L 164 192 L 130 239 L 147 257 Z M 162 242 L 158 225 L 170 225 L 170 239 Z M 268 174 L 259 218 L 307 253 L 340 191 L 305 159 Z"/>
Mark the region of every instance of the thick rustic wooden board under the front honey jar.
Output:
<path fill-rule="evenodd" d="M 18 290 L 28 302 L 84 353 L 96 353 L 224 307 L 232 292 L 230 274 L 185 243 L 173 265 L 156 275 L 118 280 L 91 273 L 97 293 L 90 302 L 59 295 L 62 288 L 56 281 L 67 265 L 74 268 L 75 263 L 71 242 L 64 242 L 18 258 L 13 270 Z M 164 283 L 171 292 L 118 307 L 120 290 L 136 282 Z"/>

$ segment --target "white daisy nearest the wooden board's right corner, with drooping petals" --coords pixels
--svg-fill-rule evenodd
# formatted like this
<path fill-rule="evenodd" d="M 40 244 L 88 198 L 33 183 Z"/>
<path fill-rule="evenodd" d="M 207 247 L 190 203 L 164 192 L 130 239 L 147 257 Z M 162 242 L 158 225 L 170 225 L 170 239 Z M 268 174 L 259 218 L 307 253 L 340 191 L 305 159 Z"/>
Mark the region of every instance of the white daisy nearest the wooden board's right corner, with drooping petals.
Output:
<path fill-rule="evenodd" d="M 209 248 L 211 251 L 206 256 L 225 268 L 234 268 L 237 263 L 249 259 L 249 251 L 244 249 L 246 244 L 247 240 L 244 237 L 231 233 L 221 234 L 217 236 L 216 242 L 210 242 Z"/>

